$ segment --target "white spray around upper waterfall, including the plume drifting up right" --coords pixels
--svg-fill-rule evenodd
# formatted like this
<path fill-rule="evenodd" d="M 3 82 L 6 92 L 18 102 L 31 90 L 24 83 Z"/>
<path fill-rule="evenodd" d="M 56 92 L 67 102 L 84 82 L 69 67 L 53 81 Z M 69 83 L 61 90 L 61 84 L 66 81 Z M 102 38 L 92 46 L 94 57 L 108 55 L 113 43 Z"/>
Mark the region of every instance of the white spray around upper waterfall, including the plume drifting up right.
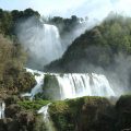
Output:
<path fill-rule="evenodd" d="M 41 19 L 29 17 L 19 23 L 16 34 L 28 55 L 27 67 L 43 70 L 44 66 L 61 58 L 76 37 L 99 23 L 95 20 L 83 20 L 82 22 L 78 20 L 76 26 L 72 27 L 62 38 L 57 26 L 45 24 Z M 61 24 L 59 24 L 60 26 L 62 28 Z"/>

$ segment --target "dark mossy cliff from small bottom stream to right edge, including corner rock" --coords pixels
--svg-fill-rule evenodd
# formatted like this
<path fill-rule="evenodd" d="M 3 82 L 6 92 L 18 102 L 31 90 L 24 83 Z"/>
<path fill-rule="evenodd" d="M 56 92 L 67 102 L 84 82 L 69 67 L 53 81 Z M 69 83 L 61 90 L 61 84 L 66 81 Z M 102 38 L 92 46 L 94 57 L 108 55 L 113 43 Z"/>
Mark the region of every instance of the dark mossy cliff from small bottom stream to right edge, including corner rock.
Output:
<path fill-rule="evenodd" d="M 104 97 L 56 102 L 49 112 L 58 131 L 124 131 L 131 128 L 131 96 L 116 105 Z"/>

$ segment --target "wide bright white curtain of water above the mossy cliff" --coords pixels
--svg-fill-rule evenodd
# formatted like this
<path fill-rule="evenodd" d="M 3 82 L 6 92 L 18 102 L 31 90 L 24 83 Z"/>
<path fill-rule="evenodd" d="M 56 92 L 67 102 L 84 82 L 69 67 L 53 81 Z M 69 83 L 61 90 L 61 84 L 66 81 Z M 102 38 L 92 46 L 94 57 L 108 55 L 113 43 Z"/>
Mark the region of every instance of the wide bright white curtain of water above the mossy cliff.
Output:
<path fill-rule="evenodd" d="M 108 80 L 102 74 L 63 74 L 56 76 L 60 86 L 61 99 L 81 96 L 115 96 Z"/>

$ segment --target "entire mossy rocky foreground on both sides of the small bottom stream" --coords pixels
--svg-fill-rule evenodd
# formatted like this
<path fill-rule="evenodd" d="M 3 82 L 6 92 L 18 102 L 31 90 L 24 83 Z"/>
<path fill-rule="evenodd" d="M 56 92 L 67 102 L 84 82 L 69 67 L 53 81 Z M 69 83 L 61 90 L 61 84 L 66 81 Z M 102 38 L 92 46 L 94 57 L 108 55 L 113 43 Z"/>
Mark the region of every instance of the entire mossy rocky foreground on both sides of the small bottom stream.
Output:
<path fill-rule="evenodd" d="M 15 103 L 15 104 L 14 104 Z M 0 131 L 48 131 L 36 110 L 49 102 L 7 103 Z M 116 105 L 104 97 L 81 97 L 52 102 L 49 115 L 57 131 L 124 131 L 131 127 L 131 96 L 121 96 Z"/>

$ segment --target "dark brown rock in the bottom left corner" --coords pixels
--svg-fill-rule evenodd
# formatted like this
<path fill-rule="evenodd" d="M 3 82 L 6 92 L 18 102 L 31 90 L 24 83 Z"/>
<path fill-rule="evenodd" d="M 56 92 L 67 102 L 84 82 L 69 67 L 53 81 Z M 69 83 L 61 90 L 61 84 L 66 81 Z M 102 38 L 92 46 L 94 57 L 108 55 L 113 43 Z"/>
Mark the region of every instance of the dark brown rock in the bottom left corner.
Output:
<path fill-rule="evenodd" d="M 0 131 L 33 131 L 34 121 L 32 112 L 20 111 L 15 118 L 0 119 Z"/>

